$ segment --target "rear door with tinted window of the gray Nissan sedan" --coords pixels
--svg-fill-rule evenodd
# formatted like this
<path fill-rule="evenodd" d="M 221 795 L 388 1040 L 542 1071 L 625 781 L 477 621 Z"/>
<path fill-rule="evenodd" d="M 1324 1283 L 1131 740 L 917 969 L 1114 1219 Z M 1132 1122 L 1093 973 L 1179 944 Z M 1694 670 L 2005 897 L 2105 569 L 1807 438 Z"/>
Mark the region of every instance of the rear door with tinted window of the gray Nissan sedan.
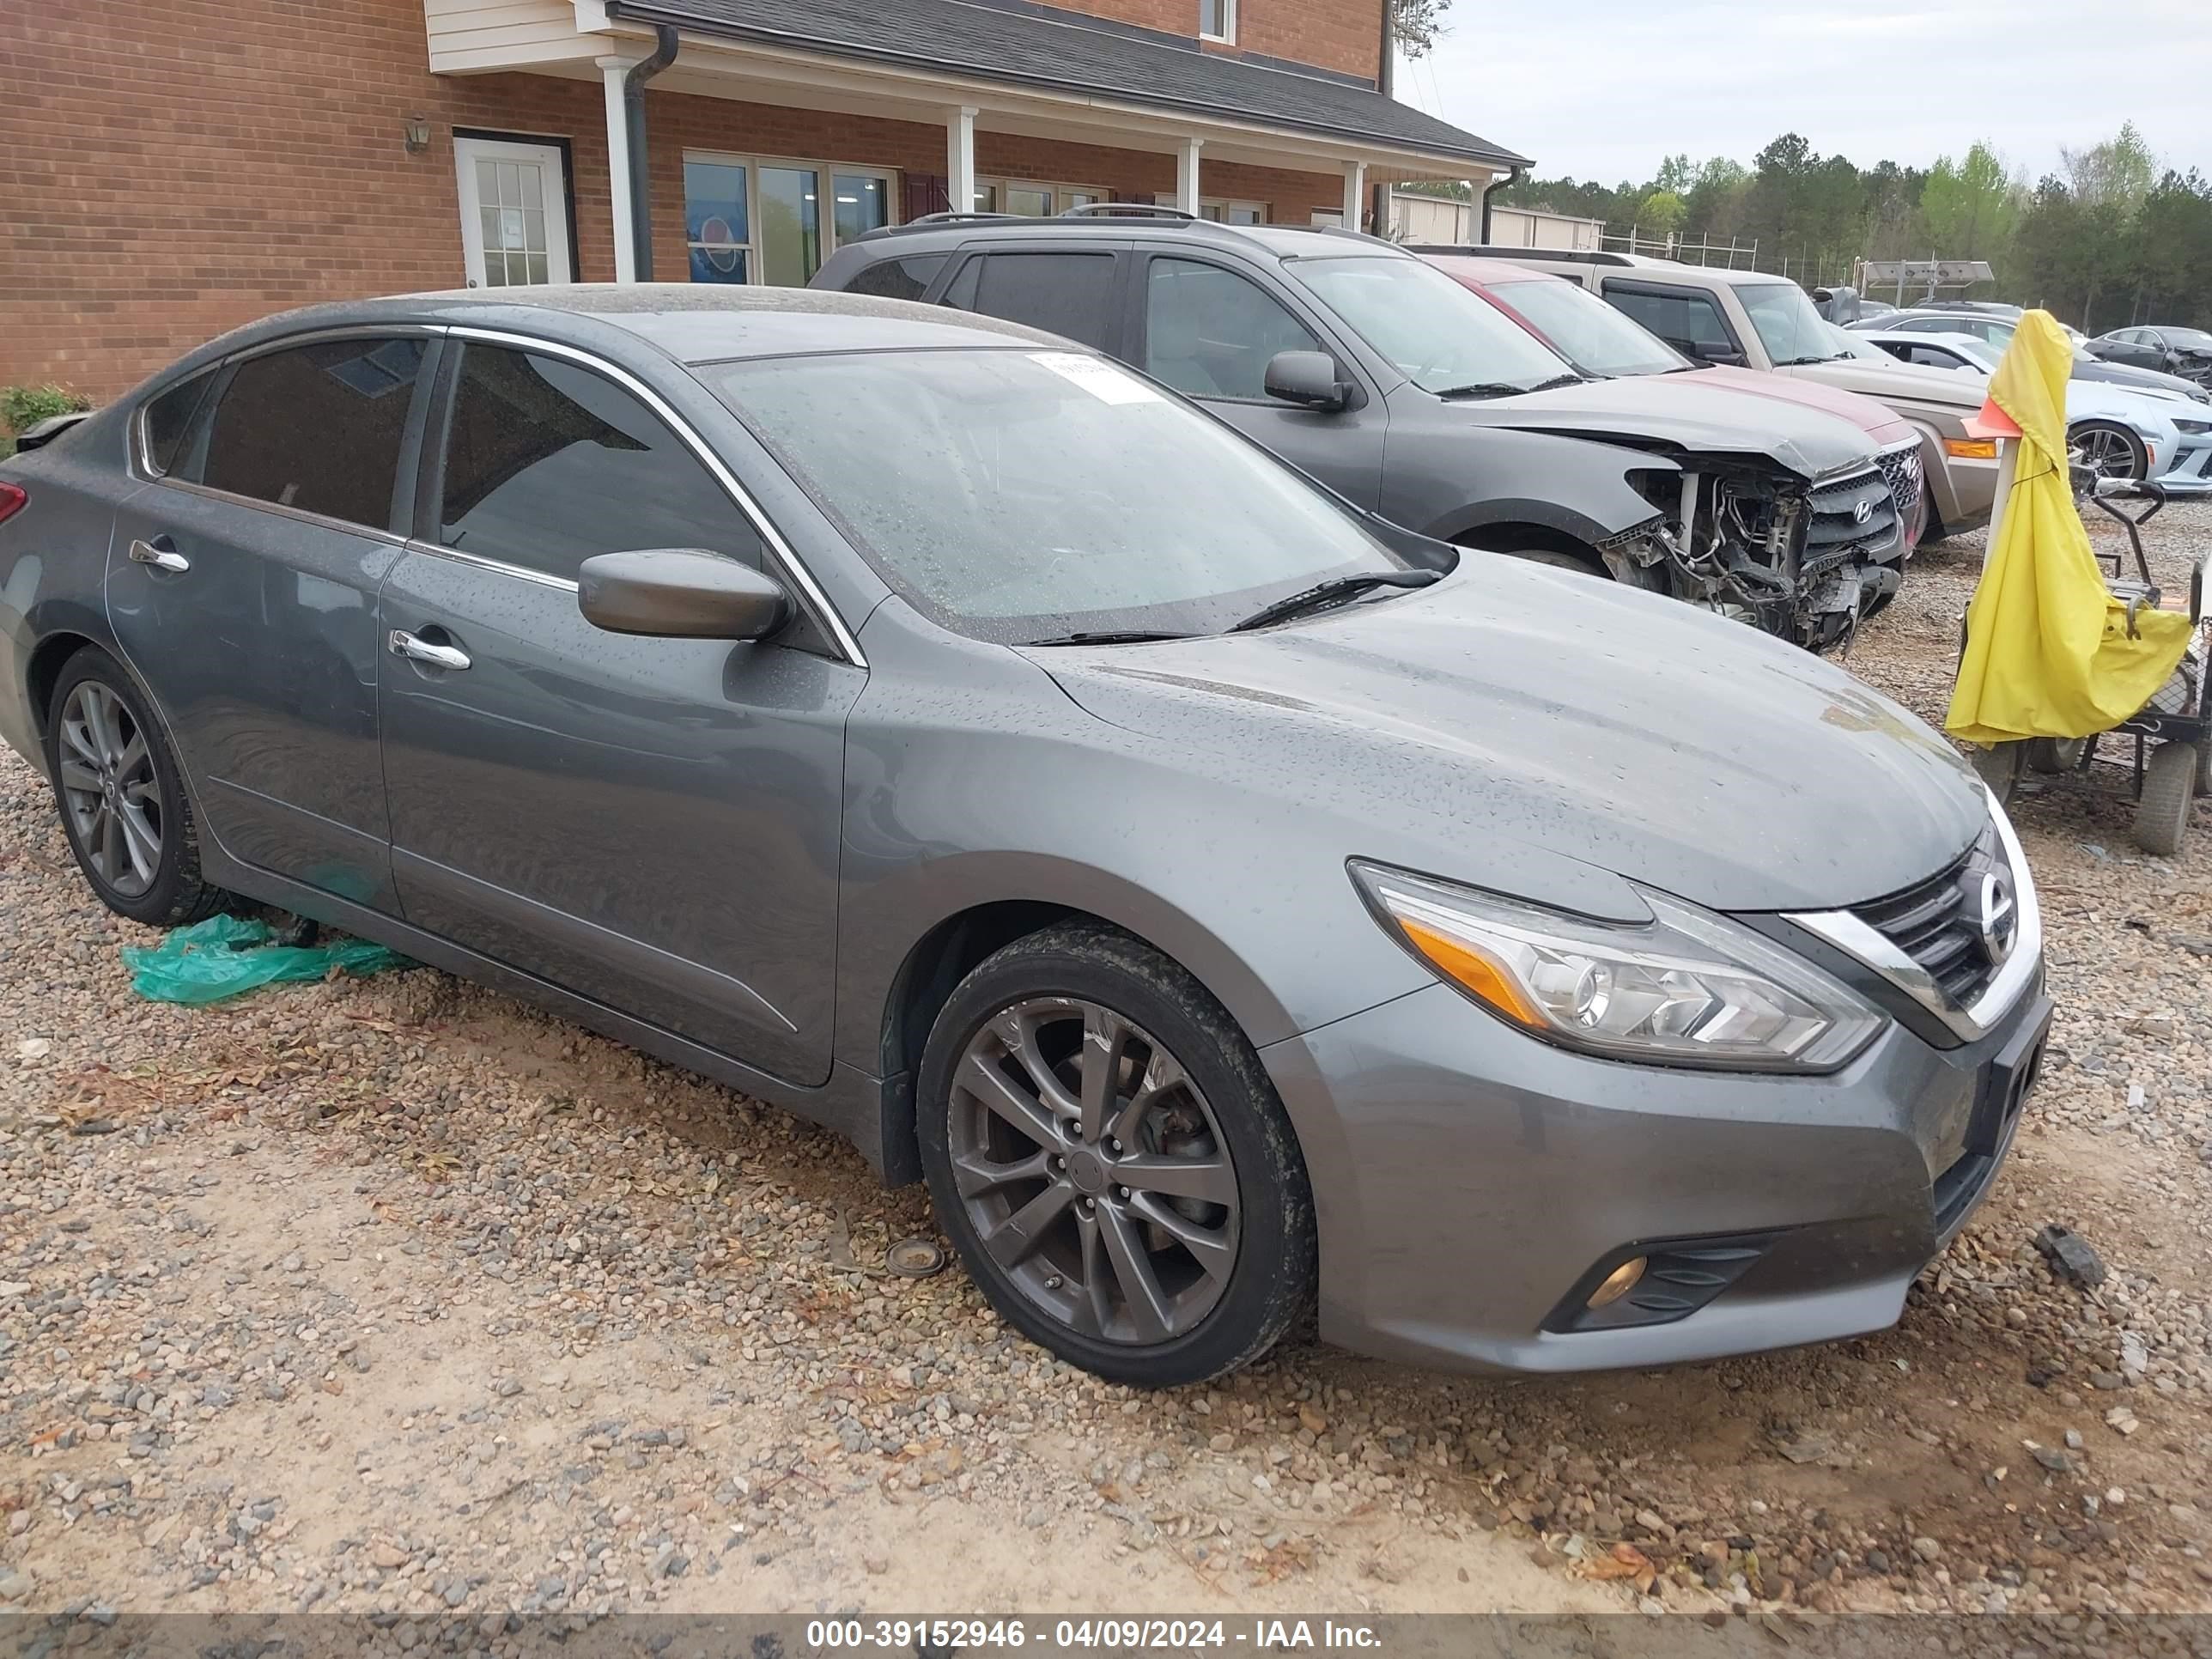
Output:
<path fill-rule="evenodd" d="M 168 717 L 201 832 L 392 909 L 376 588 L 400 557 L 429 332 L 281 341 L 148 407 L 108 617 Z"/>

